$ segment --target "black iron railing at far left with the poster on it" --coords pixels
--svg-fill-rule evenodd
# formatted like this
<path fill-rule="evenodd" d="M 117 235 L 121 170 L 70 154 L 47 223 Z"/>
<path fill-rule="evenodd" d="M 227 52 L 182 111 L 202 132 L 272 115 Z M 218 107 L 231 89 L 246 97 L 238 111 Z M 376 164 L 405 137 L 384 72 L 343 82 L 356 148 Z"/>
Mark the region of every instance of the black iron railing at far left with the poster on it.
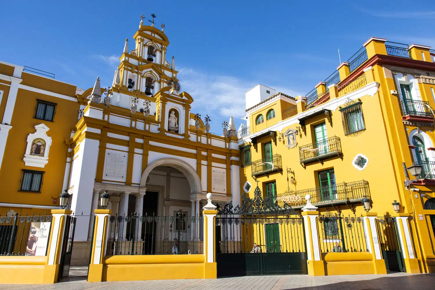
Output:
<path fill-rule="evenodd" d="M 45 256 L 52 216 L 0 217 L 0 256 Z M 38 244 L 39 243 L 39 244 Z"/>

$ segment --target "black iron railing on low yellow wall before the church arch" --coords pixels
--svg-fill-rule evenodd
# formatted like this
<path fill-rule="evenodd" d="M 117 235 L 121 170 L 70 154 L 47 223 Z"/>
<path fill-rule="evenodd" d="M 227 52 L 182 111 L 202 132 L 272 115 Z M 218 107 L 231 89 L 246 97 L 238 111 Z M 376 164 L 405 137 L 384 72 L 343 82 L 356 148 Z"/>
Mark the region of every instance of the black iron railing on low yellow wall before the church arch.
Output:
<path fill-rule="evenodd" d="M 107 255 L 204 253 L 204 217 L 186 213 L 109 218 Z"/>

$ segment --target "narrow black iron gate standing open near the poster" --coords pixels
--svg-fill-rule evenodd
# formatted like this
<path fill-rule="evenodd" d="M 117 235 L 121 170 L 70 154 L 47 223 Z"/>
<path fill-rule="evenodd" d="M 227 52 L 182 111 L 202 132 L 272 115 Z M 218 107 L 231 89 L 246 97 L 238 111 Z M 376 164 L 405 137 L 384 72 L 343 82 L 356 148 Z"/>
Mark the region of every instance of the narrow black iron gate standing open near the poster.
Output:
<path fill-rule="evenodd" d="M 73 252 L 74 231 L 76 228 L 76 217 L 67 216 L 65 224 L 64 238 L 62 240 L 62 249 L 60 254 L 59 276 L 57 281 L 68 277 L 70 273 L 71 254 Z"/>

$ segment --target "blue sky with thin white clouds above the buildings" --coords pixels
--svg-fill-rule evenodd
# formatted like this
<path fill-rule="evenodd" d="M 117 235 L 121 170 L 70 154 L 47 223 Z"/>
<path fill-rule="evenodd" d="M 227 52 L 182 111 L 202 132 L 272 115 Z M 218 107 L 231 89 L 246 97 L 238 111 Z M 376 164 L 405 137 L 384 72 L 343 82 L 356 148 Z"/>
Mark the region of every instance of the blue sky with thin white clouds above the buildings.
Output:
<path fill-rule="evenodd" d="M 394 4 L 394 5 L 393 5 Z M 0 60 L 55 73 L 80 88 L 110 85 L 139 16 L 165 23 L 192 112 L 220 133 L 238 127 L 244 93 L 264 84 L 305 95 L 368 38 L 435 47 L 435 10 L 391 1 L 2 1 Z M 420 10 L 419 10 L 420 9 Z"/>

